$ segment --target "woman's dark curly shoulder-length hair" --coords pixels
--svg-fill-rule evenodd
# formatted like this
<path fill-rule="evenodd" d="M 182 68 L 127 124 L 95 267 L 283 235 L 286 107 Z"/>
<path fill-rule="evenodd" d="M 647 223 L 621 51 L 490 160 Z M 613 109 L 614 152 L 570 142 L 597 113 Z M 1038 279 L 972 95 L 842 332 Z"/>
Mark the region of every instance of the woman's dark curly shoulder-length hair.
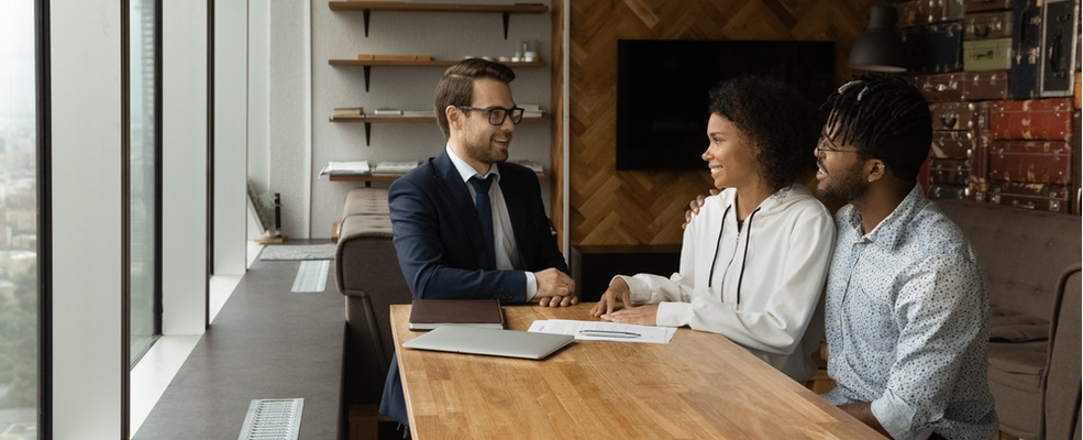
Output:
<path fill-rule="evenodd" d="M 797 89 L 766 77 L 741 76 L 717 84 L 708 94 L 711 113 L 733 122 L 755 145 L 758 172 L 782 189 L 816 169 L 819 132 L 816 106 Z"/>

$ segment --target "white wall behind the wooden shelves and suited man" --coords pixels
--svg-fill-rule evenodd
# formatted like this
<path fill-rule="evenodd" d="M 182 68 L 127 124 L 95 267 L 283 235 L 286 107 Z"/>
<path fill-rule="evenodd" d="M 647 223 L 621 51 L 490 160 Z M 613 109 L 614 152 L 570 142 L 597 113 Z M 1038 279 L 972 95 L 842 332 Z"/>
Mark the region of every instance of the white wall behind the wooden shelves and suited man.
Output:
<path fill-rule="evenodd" d="M 358 54 L 424 54 L 438 59 L 510 56 L 519 40 L 532 40 L 542 58 L 551 62 L 550 13 L 512 14 L 505 40 L 501 18 L 496 13 L 374 11 L 366 38 L 360 11 L 332 12 L 327 1 L 312 1 L 309 40 L 303 22 L 306 11 L 298 10 L 299 3 L 273 2 L 269 28 L 274 48 L 268 84 L 270 153 L 264 169 L 269 191 L 283 195 L 283 224 L 289 238 L 330 237 L 331 223 L 342 211 L 346 191 L 363 185 L 320 178 L 319 172 L 329 161 L 423 160 L 439 154 L 444 146 L 435 123 L 373 124 L 372 145 L 366 146 L 364 124 L 328 122 L 335 107 L 430 110 L 443 68 L 374 67 L 371 90 L 365 92 L 361 67 L 331 67 L 328 59 Z M 257 31 L 255 25 L 253 30 Z M 311 76 L 310 90 L 306 75 Z M 538 103 L 551 110 L 550 67 L 519 68 L 516 75 L 511 84 L 516 102 Z M 549 124 L 520 124 L 511 158 L 540 162 L 552 175 L 551 144 Z M 306 163 L 310 165 L 303 166 Z M 250 169 L 251 176 L 262 173 L 263 169 Z M 543 185 L 546 206 L 548 188 Z"/>

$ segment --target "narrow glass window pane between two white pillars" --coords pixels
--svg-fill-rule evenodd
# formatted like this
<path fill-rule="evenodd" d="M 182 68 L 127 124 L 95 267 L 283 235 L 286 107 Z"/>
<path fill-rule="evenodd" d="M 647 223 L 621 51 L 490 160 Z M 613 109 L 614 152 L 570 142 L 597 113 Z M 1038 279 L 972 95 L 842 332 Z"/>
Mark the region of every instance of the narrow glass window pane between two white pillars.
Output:
<path fill-rule="evenodd" d="M 155 123 L 155 0 L 131 1 L 131 355 L 132 364 L 155 337 L 157 148 Z"/>

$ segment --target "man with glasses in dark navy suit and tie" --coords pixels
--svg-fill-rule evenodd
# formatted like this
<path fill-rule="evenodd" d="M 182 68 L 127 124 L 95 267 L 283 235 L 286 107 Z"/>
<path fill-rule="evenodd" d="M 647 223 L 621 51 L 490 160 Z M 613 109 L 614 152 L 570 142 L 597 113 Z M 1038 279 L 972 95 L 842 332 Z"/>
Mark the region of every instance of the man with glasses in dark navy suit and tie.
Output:
<path fill-rule="evenodd" d="M 509 164 L 522 109 L 505 65 L 465 59 L 436 86 L 444 152 L 395 180 L 388 191 L 395 250 L 415 298 L 577 302 L 534 172 Z M 380 414 L 407 425 L 397 360 Z"/>

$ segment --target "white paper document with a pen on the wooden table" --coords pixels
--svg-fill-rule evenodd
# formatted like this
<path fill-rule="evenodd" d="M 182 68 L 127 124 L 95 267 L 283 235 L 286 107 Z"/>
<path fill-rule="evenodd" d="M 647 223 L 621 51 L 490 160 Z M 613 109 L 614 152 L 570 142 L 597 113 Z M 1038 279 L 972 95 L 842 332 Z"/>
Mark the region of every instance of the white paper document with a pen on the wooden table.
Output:
<path fill-rule="evenodd" d="M 672 327 L 632 326 L 607 321 L 539 319 L 531 323 L 530 329 L 527 331 L 568 334 L 579 341 L 670 343 L 677 329 Z"/>

